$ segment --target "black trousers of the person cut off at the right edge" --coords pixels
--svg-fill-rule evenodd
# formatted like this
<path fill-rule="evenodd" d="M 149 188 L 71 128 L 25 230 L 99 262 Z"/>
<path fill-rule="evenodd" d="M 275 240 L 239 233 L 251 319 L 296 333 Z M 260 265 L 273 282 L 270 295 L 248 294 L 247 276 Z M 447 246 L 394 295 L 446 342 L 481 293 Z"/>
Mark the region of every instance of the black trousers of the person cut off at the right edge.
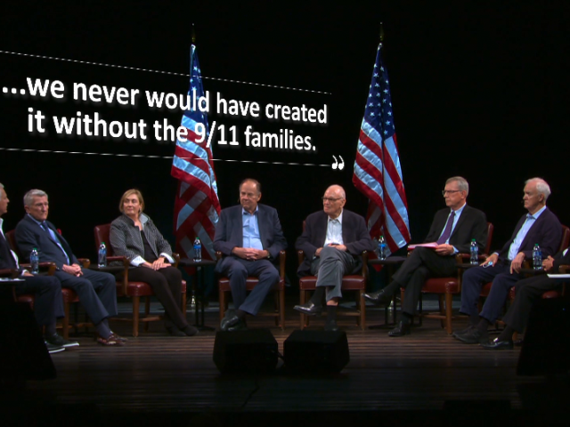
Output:
<path fill-rule="evenodd" d="M 518 333 L 524 332 L 534 302 L 540 300 L 545 292 L 562 287 L 562 283 L 545 274 L 519 280 L 515 285 L 515 300 L 502 318 L 503 322 Z"/>

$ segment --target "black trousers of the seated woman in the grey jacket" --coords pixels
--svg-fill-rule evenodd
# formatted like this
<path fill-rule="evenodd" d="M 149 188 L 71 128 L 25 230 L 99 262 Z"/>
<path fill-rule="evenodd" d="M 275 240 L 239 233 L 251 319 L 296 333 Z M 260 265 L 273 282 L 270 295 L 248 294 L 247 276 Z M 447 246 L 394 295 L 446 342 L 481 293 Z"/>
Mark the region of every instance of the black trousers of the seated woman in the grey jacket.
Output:
<path fill-rule="evenodd" d="M 121 273 L 122 278 L 122 273 Z M 182 306 L 182 273 L 175 267 L 152 270 L 148 267 L 136 267 L 128 270 L 129 280 L 148 283 L 157 300 L 165 311 L 165 325 L 183 329 L 188 326 Z"/>

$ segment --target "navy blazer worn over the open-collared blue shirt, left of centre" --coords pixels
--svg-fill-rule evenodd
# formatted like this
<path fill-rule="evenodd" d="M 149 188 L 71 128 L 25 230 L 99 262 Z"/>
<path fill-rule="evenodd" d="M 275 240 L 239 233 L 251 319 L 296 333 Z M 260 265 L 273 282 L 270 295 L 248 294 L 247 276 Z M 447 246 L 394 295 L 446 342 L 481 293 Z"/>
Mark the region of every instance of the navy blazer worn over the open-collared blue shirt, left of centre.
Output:
<path fill-rule="evenodd" d="M 259 237 L 264 249 L 271 254 L 273 261 L 277 260 L 281 250 L 287 247 L 287 240 L 281 231 L 281 222 L 277 211 L 268 205 L 257 205 L 257 223 Z M 231 255 L 234 247 L 243 246 L 242 207 L 235 205 L 222 210 L 220 220 L 216 224 L 214 250 L 224 255 Z M 216 270 L 223 270 L 222 259 L 216 265 Z"/>

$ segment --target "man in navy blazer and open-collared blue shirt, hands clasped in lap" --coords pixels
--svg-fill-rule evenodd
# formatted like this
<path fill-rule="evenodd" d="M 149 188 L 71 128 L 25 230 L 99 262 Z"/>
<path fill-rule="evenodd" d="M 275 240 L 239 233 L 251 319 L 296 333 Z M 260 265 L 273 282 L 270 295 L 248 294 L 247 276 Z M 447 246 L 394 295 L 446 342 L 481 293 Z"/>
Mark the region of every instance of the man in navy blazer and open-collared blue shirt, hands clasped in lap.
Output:
<path fill-rule="evenodd" d="M 240 183 L 240 205 L 222 210 L 216 225 L 214 249 L 224 254 L 216 272 L 230 278 L 235 311 L 228 310 L 221 323 L 223 331 L 245 329 L 246 316 L 255 316 L 265 296 L 279 280 L 275 262 L 287 241 L 281 231 L 277 211 L 259 205 L 261 184 L 252 179 Z M 259 279 L 246 295 L 248 276 Z"/>

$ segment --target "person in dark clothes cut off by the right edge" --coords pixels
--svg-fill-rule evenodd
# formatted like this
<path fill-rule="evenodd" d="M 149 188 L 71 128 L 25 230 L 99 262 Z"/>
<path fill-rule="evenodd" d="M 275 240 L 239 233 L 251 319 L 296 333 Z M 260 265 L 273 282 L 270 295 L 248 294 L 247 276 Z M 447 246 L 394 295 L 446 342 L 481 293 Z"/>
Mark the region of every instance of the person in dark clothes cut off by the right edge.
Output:
<path fill-rule="evenodd" d="M 554 258 L 549 256 L 542 261 L 542 269 L 548 273 L 558 273 L 563 264 L 570 264 L 570 248 L 558 252 Z M 533 308 L 534 302 L 548 291 L 559 290 L 564 280 L 549 278 L 546 274 L 525 278 L 515 284 L 515 300 L 510 304 L 507 314 L 502 318 L 505 328 L 493 342 L 483 343 L 486 350 L 510 350 L 514 348 L 513 334 L 525 332 L 526 323 Z M 491 289 L 493 293 L 493 288 Z M 491 298 L 491 294 L 489 294 Z"/>

